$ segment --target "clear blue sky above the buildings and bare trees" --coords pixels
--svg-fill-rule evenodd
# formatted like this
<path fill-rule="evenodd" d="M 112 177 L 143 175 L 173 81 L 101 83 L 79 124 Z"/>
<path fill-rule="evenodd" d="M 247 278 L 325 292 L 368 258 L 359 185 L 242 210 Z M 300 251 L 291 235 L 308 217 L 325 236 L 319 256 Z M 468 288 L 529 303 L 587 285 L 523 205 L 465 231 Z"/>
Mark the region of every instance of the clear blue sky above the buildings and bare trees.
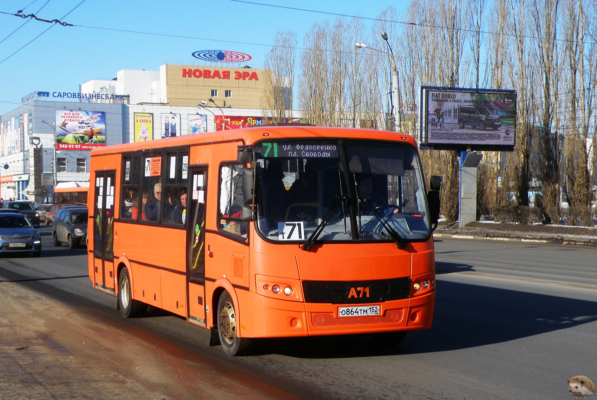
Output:
<path fill-rule="evenodd" d="M 388 5 L 399 12 L 407 5 L 387 0 L 254 0 L 254 3 L 3 0 L 0 2 L 0 115 L 17 108 L 21 97 L 33 91 L 78 91 L 79 84 L 93 78 L 115 78 L 121 69 L 158 71 L 164 63 L 205 65 L 191 56 L 197 50 L 240 51 L 253 57 L 248 65 L 262 68 L 264 54 L 278 30 L 294 30 L 300 46 L 313 23 L 333 23 L 337 18 L 256 3 L 367 18 L 376 18 Z M 20 10 L 23 15 L 35 14 L 39 19 L 57 19 L 75 26 L 9 15 Z M 367 20 L 364 23 L 371 25 Z M 47 32 L 43 33 L 44 30 Z M 32 42 L 26 45 L 29 41 Z M 26 47 L 19 50 L 23 45 Z"/>

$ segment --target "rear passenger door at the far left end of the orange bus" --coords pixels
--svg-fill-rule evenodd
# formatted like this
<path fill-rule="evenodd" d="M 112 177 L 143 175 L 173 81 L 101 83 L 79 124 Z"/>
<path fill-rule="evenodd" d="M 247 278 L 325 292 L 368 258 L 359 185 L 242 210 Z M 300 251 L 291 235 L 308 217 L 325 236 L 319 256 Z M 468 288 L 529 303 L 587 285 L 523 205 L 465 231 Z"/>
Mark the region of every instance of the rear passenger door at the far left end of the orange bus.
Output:
<path fill-rule="evenodd" d="M 94 286 L 115 292 L 114 277 L 114 184 L 116 172 L 96 172 L 93 207 Z M 88 233 L 89 234 L 89 233 Z"/>

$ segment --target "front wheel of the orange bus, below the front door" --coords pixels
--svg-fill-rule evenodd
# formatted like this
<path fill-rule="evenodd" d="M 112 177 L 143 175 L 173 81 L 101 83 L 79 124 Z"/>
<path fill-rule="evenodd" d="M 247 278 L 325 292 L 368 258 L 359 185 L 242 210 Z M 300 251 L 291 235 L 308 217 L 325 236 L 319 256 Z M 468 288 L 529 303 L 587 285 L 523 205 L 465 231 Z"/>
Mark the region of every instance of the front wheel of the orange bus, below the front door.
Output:
<path fill-rule="evenodd" d="M 224 352 L 230 356 L 239 356 L 249 346 L 247 338 L 239 337 L 236 331 L 238 317 L 232 297 L 226 291 L 222 292 L 218 301 L 218 335 Z"/>

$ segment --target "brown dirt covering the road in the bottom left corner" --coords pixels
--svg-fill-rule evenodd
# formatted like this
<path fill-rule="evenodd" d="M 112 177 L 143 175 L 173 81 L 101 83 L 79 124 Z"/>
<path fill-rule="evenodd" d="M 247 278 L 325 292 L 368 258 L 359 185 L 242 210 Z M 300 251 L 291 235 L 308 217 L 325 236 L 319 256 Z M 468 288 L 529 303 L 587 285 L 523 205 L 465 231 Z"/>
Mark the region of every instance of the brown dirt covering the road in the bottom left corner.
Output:
<path fill-rule="evenodd" d="M 1 279 L 2 400 L 290 398 Z"/>

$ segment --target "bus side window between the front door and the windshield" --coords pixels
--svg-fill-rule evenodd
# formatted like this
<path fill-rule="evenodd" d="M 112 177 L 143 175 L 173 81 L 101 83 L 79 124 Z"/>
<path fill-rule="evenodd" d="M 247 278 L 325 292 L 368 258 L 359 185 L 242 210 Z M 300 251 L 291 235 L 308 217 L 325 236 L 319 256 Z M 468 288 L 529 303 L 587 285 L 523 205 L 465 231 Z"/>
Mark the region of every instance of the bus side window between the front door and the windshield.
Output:
<path fill-rule="evenodd" d="M 241 221 L 242 165 L 224 165 L 220 169 L 220 204 L 218 227 L 227 233 L 247 238 L 248 223 Z"/>

